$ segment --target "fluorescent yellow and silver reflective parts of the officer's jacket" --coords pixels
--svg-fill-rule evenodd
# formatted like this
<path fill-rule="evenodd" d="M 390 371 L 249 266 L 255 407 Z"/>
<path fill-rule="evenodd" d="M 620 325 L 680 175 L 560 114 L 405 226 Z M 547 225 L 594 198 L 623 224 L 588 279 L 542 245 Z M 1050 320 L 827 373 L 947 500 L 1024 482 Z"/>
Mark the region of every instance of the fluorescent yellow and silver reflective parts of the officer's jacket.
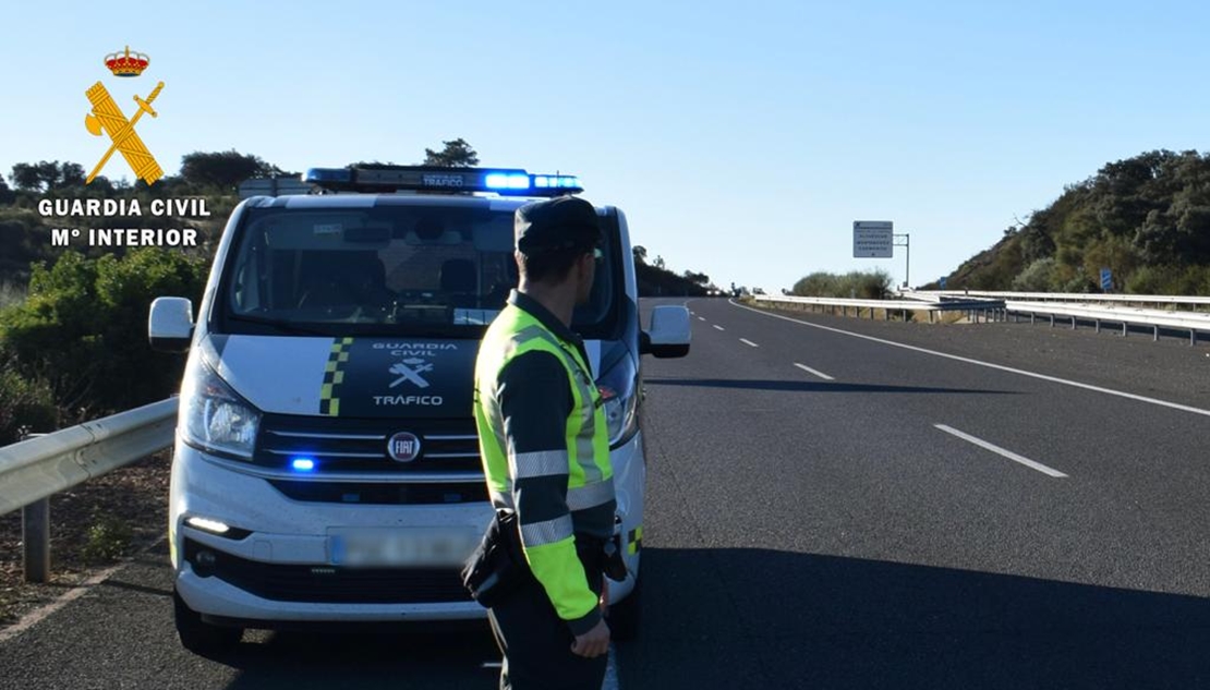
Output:
<path fill-rule="evenodd" d="M 496 396 L 500 374 L 511 361 L 534 351 L 554 355 L 567 372 L 574 404 L 564 427 L 564 448 L 509 458 Z M 597 596 L 576 556 L 574 535 L 610 536 L 616 507 L 609 432 L 588 366 L 572 344 L 524 309 L 508 304 L 488 328 L 479 349 L 474 416 L 488 489 L 497 508 L 515 510 L 514 479 L 561 473 L 566 462 L 567 512 L 542 522 L 528 521 L 524 510 L 518 517 L 525 558 L 559 617 L 570 621 L 587 615 L 597 605 Z"/>

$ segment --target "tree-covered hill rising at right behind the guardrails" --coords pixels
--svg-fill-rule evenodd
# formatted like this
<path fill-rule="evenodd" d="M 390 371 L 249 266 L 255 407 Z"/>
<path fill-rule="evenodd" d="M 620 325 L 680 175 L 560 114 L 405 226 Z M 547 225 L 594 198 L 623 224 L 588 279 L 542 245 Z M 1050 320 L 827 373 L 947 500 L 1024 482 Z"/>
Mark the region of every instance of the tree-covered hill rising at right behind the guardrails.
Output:
<path fill-rule="evenodd" d="M 963 263 L 949 289 L 1210 295 L 1210 154 L 1150 151 L 1068 185 Z M 926 286 L 938 287 L 937 283 Z"/>

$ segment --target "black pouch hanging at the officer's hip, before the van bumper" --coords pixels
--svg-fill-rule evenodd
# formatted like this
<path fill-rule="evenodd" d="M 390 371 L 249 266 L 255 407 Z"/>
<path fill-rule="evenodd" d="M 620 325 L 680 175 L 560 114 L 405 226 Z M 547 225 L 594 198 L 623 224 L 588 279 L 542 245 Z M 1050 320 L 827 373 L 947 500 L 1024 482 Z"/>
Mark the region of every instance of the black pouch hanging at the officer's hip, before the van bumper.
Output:
<path fill-rule="evenodd" d="M 471 598 L 490 609 L 534 580 L 522 551 L 517 513 L 496 511 L 478 548 L 462 568 L 462 586 Z"/>

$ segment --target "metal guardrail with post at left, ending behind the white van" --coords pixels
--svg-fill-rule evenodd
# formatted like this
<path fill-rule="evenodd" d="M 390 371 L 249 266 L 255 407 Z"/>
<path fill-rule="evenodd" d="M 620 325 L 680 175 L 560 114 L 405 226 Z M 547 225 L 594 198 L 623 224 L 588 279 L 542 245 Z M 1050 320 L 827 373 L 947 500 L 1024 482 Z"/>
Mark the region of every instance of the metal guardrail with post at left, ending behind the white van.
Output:
<path fill-rule="evenodd" d="M 177 398 L 0 448 L 0 514 L 24 508 L 25 579 L 50 577 L 50 496 L 168 448 Z"/>

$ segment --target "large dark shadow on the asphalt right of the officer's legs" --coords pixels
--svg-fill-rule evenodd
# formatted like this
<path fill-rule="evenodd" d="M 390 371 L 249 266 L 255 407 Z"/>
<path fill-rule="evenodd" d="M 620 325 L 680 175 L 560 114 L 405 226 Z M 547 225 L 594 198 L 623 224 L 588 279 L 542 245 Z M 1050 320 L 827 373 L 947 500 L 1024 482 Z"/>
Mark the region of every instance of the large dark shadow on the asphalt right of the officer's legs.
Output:
<path fill-rule="evenodd" d="M 622 686 L 1210 688 L 1210 599 L 767 550 L 644 551 Z"/>

